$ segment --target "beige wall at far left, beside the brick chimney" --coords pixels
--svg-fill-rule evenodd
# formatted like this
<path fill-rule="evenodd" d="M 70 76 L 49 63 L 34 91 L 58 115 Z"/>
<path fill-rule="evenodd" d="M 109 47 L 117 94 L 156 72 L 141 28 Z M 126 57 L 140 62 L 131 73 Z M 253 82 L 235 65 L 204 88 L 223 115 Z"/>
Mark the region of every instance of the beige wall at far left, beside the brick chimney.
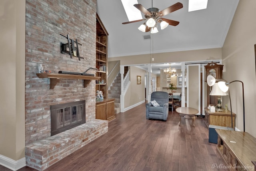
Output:
<path fill-rule="evenodd" d="M 25 0 L 0 3 L 0 155 L 25 157 Z"/>

